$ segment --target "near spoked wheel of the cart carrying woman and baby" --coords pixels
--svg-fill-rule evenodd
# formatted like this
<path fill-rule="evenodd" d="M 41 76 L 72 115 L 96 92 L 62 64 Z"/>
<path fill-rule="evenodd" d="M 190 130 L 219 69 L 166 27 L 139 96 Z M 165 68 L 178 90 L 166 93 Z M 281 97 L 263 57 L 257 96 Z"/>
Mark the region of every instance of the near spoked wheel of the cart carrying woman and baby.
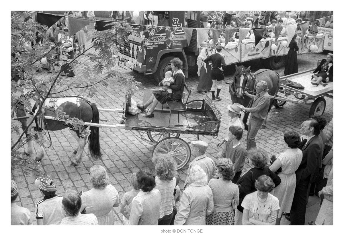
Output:
<path fill-rule="evenodd" d="M 157 154 L 174 154 L 177 170 L 183 168 L 191 157 L 189 145 L 180 138 L 165 138 L 158 142 L 153 149 L 153 156 Z"/>

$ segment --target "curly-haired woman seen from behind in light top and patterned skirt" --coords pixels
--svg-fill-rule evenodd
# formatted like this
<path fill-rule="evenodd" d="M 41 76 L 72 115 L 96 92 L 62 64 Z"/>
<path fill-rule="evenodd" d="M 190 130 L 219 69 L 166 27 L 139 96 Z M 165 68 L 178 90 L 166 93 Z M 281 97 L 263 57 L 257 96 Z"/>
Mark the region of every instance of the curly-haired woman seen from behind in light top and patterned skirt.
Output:
<path fill-rule="evenodd" d="M 232 183 L 235 175 L 233 163 L 227 158 L 215 161 L 218 179 L 211 179 L 208 186 L 212 189 L 214 211 L 206 216 L 206 225 L 234 225 L 236 203 L 239 202 L 239 188 Z M 235 204 L 236 205 L 236 204 Z"/>

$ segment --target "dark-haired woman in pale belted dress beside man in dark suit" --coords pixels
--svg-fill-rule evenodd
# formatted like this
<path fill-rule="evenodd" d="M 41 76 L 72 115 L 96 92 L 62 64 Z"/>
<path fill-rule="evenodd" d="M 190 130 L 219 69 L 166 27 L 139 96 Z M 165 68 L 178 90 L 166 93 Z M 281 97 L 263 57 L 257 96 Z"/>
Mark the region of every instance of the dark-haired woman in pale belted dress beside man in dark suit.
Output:
<path fill-rule="evenodd" d="M 295 171 L 302 161 L 302 151 L 298 149 L 301 142 L 299 134 L 295 131 L 284 133 L 284 142 L 288 145 L 287 149 L 277 155 L 277 160 L 269 167 L 272 172 L 282 168 L 282 172 L 278 173 L 281 184 L 272 192 L 272 195 L 278 198 L 280 205 L 276 225 L 280 224 L 282 212 L 290 213 L 296 186 Z"/>

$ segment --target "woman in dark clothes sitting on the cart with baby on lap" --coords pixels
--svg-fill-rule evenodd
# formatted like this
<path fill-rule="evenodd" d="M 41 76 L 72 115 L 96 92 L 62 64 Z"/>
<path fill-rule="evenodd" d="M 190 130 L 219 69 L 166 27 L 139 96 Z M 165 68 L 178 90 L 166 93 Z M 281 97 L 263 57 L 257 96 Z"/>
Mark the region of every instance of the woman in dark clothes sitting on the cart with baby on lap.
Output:
<path fill-rule="evenodd" d="M 144 115 L 144 117 L 146 118 L 154 117 L 154 109 L 158 105 L 158 102 L 160 102 L 161 104 L 165 104 L 166 101 L 169 100 L 170 102 L 175 103 L 182 99 L 185 85 L 185 76 L 182 71 L 183 61 L 176 57 L 172 59 L 170 62 L 171 69 L 173 72 L 173 80 L 170 80 L 170 82 L 162 81 L 162 84 L 164 87 L 169 86 L 170 89 L 172 89 L 172 96 L 171 98 L 169 98 L 169 93 L 165 91 L 165 89 L 154 91 L 152 93 L 152 96 L 148 99 L 148 101 L 145 104 L 137 105 L 137 107 L 141 111 L 144 111 L 150 104 L 152 104 L 151 108 L 148 110 L 146 115 Z"/>

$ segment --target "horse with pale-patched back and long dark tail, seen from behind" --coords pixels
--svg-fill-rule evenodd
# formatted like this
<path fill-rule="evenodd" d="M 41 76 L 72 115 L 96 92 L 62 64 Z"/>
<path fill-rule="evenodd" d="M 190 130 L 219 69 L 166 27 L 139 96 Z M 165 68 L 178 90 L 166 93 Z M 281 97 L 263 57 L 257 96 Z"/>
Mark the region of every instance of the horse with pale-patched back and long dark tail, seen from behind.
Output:
<path fill-rule="evenodd" d="M 56 97 L 56 98 L 47 98 L 44 104 L 36 103 L 33 99 L 29 99 L 32 107 L 38 107 L 37 112 L 41 109 L 40 114 L 44 116 L 53 116 L 55 117 L 55 111 L 60 109 L 63 110 L 69 118 L 78 118 L 84 122 L 99 123 L 99 112 L 98 108 L 94 103 L 90 103 L 86 98 L 82 96 L 68 96 L 68 97 Z M 33 111 L 28 107 L 21 104 L 17 110 L 17 118 L 25 117 L 28 115 L 33 115 Z M 22 124 L 22 129 L 25 130 L 28 126 L 28 119 L 19 119 Z M 38 121 L 38 122 L 37 122 Z M 82 137 L 82 133 L 78 130 L 72 129 L 70 124 L 66 122 L 51 120 L 51 119 L 41 119 L 38 118 L 35 120 L 28 130 L 35 128 L 35 130 L 62 130 L 69 128 L 73 137 L 78 142 L 78 147 L 75 149 L 75 157 L 71 161 L 71 166 L 76 166 L 81 162 L 82 153 L 87 142 L 87 137 Z M 84 130 L 87 126 L 84 126 Z M 26 132 L 26 136 L 28 133 Z M 83 135 L 85 136 L 85 135 Z M 28 148 L 25 149 L 25 153 L 30 155 L 32 158 L 35 157 L 35 161 L 40 161 L 44 157 L 44 149 L 42 146 L 37 148 L 37 153 L 35 153 L 34 144 L 37 141 L 28 141 Z M 101 158 L 100 145 L 99 145 L 99 127 L 90 127 L 90 133 L 88 135 L 88 144 L 91 157 L 95 160 Z"/>

